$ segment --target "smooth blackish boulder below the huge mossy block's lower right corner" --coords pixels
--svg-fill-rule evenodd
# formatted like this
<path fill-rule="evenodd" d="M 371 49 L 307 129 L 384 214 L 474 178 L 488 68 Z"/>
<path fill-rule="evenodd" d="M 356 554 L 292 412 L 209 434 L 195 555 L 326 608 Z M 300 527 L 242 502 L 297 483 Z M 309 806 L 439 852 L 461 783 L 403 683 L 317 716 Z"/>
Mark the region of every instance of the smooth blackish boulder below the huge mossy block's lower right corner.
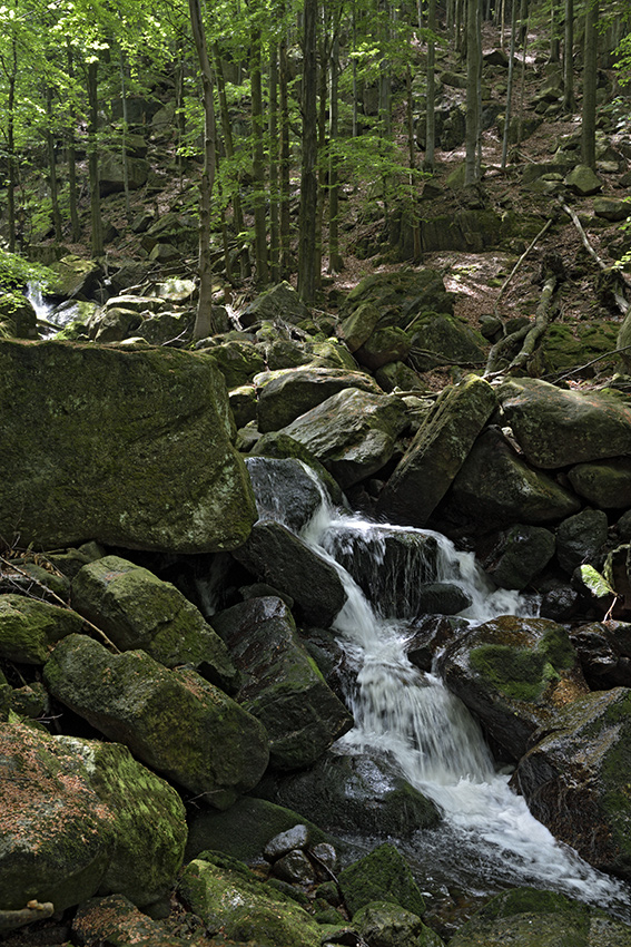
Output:
<path fill-rule="evenodd" d="M 258 520 L 233 555 L 259 579 L 289 595 L 309 625 L 328 628 L 346 602 L 337 569 L 280 523 Z"/>

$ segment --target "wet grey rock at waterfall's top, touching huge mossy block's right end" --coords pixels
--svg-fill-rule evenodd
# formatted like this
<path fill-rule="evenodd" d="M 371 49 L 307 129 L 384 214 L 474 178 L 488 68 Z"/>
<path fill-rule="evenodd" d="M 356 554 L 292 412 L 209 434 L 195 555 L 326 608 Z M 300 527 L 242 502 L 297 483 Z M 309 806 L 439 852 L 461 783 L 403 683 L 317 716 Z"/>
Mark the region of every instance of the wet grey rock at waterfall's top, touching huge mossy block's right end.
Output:
<path fill-rule="evenodd" d="M 282 523 L 299 533 L 319 509 L 326 488 L 315 472 L 296 458 L 248 457 L 259 519 Z"/>

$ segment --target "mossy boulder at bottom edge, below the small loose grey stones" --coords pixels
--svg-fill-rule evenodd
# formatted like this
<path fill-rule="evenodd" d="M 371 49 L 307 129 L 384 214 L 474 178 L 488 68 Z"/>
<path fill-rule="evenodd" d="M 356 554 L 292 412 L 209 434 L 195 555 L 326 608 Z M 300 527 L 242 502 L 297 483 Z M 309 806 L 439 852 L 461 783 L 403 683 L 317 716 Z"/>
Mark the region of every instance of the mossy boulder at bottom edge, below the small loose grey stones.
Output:
<path fill-rule="evenodd" d="M 245 866 L 214 865 L 203 853 L 186 866 L 178 890 L 210 935 L 220 931 L 229 940 L 269 947 L 321 945 L 319 926 L 305 909 Z"/>

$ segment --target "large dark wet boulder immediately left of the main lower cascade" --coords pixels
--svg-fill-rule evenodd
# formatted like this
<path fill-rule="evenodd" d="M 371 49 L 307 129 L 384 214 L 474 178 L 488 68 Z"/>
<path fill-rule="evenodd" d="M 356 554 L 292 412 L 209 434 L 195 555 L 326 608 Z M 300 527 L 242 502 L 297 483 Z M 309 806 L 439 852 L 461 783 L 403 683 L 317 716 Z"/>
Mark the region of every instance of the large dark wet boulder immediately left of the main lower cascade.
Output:
<path fill-rule="evenodd" d="M 308 767 L 352 728 L 282 599 L 250 598 L 217 615 L 215 626 L 241 674 L 236 700 L 267 731 L 272 765 Z"/>

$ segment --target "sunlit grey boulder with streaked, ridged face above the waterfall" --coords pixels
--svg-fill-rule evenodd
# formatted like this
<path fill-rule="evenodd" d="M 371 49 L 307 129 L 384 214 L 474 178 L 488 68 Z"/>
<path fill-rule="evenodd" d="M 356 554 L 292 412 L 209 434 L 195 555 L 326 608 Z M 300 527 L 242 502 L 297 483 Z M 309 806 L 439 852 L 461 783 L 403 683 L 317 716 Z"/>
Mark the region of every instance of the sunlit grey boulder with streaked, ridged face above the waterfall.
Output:
<path fill-rule="evenodd" d="M 405 428 L 405 406 L 396 396 L 348 388 L 283 428 L 335 477 L 342 489 L 387 463 Z"/>

